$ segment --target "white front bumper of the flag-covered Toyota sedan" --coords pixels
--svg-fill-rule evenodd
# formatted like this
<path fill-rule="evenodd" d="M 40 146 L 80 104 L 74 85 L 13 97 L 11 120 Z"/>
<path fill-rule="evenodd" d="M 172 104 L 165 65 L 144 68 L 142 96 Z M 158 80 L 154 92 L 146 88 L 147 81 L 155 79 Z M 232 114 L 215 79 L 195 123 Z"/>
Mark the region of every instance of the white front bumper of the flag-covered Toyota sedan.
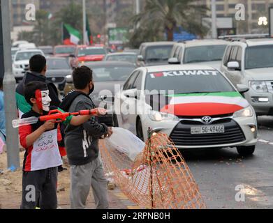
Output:
<path fill-rule="evenodd" d="M 226 148 L 226 147 L 236 147 L 236 146 L 253 146 L 257 144 L 257 120 L 256 116 L 253 117 L 240 117 L 240 118 L 230 118 L 233 123 L 236 123 L 238 131 L 242 130 L 242 135 L 244 136 L 241 141 L 236 141 L 235 143 L 224 143 L 224 144 L 207 144 L 207 145 L 194 145 L 189 144 L 176 144 L 177 148 Z M 181 121 L 165 121 L 165 122 L 155 122 L 151 121 L 149 117 L 145 117 L 142 120 L 142 128 L 145 140 L 147 140 L 147 130 L 152 128 L 155 132 L 161 132 L 167 134 L 172 139 L 172 132 L 177 128 Z M 220 123 L 212 123 L 212 125 L 219 125 Z M 197 123 L 197 125 L 203 125 L 202 123 Z M 256 131 L 252 132 L 251 128 L 255 128 Z M 236 134 L 235 134 L 236 135 Z M 205 135 L 203 135 L 205 137 Z M 211 134 L 210 136 L 213 136 Z M 189 135 L 191 137 L 191 135 Z M 183 137 L 179 137 L 183 141 Z M 190 138 L 188 138 L 189 140 Z"/>

